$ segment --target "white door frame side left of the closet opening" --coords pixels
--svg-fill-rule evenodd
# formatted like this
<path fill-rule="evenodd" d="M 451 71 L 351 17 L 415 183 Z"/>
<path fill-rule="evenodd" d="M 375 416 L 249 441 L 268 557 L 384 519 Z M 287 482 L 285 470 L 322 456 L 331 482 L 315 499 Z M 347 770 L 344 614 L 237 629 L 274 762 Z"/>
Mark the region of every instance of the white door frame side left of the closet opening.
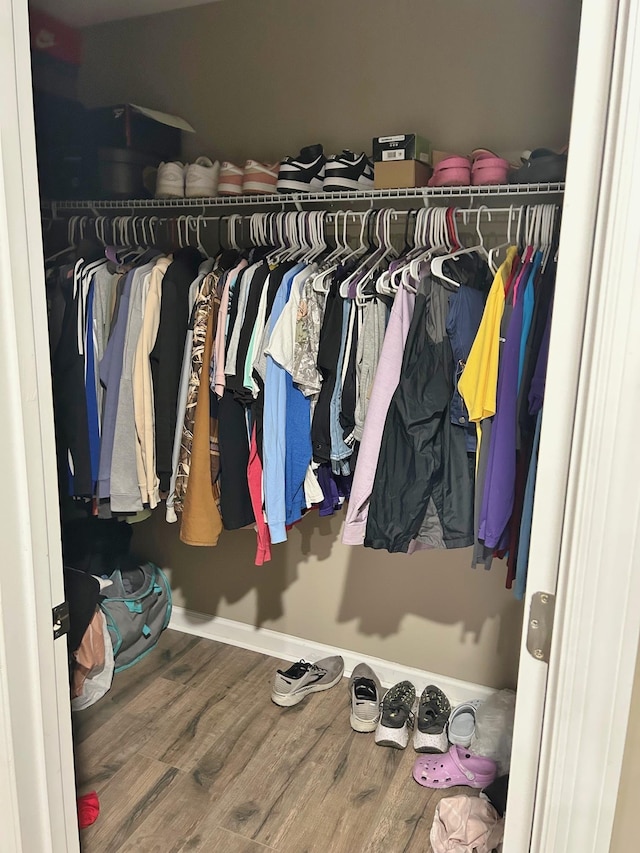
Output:
<path fill-rule="evenodd" d="M 12 757 L 3 783 L 17 806 L 13 843 L 0 848 L 74 853 L 66 640 L 52 634 L 64 589 L 26 0 L 0 0 L 0 79 L 0 754 Z"/>

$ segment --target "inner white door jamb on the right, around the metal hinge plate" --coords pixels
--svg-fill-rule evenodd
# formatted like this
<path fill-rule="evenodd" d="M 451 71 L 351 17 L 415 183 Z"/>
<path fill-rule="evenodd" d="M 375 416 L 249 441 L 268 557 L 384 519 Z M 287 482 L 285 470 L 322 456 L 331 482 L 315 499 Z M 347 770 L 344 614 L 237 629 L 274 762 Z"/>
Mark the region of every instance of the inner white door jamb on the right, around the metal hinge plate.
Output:
<path fill-rule="evenodd" d="M 551 853 L 551 848 L 530 847 L 534 807 L 540 808 L 536 784 L 548 668 L 527 651 L 526 614 L 535 592 L 554 594 L 557 586 L 615 32 L 615 4 L 584 0 L 525 596 L 513 739 L 517 760 L 509 780 L 505 853 L 529 849 Z"/>

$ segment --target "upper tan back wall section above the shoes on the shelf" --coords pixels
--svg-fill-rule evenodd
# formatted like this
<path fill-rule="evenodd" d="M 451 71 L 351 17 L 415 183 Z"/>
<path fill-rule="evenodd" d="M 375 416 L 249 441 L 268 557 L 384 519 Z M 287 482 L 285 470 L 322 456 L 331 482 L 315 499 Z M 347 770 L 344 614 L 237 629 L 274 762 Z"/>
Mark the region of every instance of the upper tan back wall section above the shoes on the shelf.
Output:
<path fill-rule="evenodd" d="M 222 0 L 85 30 L 80 97 L 174 112 L 185 154 L 269 161 L 321 141 L 370 150 L 566 143 L 579 0 Z"/>

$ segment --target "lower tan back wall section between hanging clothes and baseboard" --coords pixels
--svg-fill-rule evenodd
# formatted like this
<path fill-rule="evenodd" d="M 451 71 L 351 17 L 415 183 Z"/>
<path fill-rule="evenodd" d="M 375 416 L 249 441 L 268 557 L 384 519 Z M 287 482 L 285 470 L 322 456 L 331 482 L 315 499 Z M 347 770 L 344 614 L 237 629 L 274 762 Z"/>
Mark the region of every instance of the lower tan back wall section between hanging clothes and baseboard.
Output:
<path fill-rule="evenodd" d="M 339 541 L 340 521 L 306 518 L 253 565 L 255 534 L 216 548 L 178 538 L 164 512 L 137 524 L 134 548 L 169 568 L 176 604 L 492 687 L 515 686 L 522 607 L 503 563 L 472 570 L 470 553 L 391 556 Z"/>

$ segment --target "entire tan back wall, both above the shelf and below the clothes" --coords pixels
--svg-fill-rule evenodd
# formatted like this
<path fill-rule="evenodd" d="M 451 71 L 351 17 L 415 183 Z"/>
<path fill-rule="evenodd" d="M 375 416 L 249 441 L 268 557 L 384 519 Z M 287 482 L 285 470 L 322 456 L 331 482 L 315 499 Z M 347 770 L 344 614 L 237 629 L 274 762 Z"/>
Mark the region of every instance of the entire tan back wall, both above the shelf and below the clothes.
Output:
<path fill-rule="evenodd" d="M 186 155 L 275 160 L 322 141 L 370 148 L 417 131 L 440 147 L 516 152 L 568 135 L 578 0 L 222 0 L 85 31 L 80 94 L 188 119 Z M 306 519 L 270 565 L 254 536 L 180 544 L 160 514 L 140 553 L 171 569 L 176 603 L 491 685 L 513 686 L 522 608 L 504 568 L 469 553 L 391 557 Z"/>

